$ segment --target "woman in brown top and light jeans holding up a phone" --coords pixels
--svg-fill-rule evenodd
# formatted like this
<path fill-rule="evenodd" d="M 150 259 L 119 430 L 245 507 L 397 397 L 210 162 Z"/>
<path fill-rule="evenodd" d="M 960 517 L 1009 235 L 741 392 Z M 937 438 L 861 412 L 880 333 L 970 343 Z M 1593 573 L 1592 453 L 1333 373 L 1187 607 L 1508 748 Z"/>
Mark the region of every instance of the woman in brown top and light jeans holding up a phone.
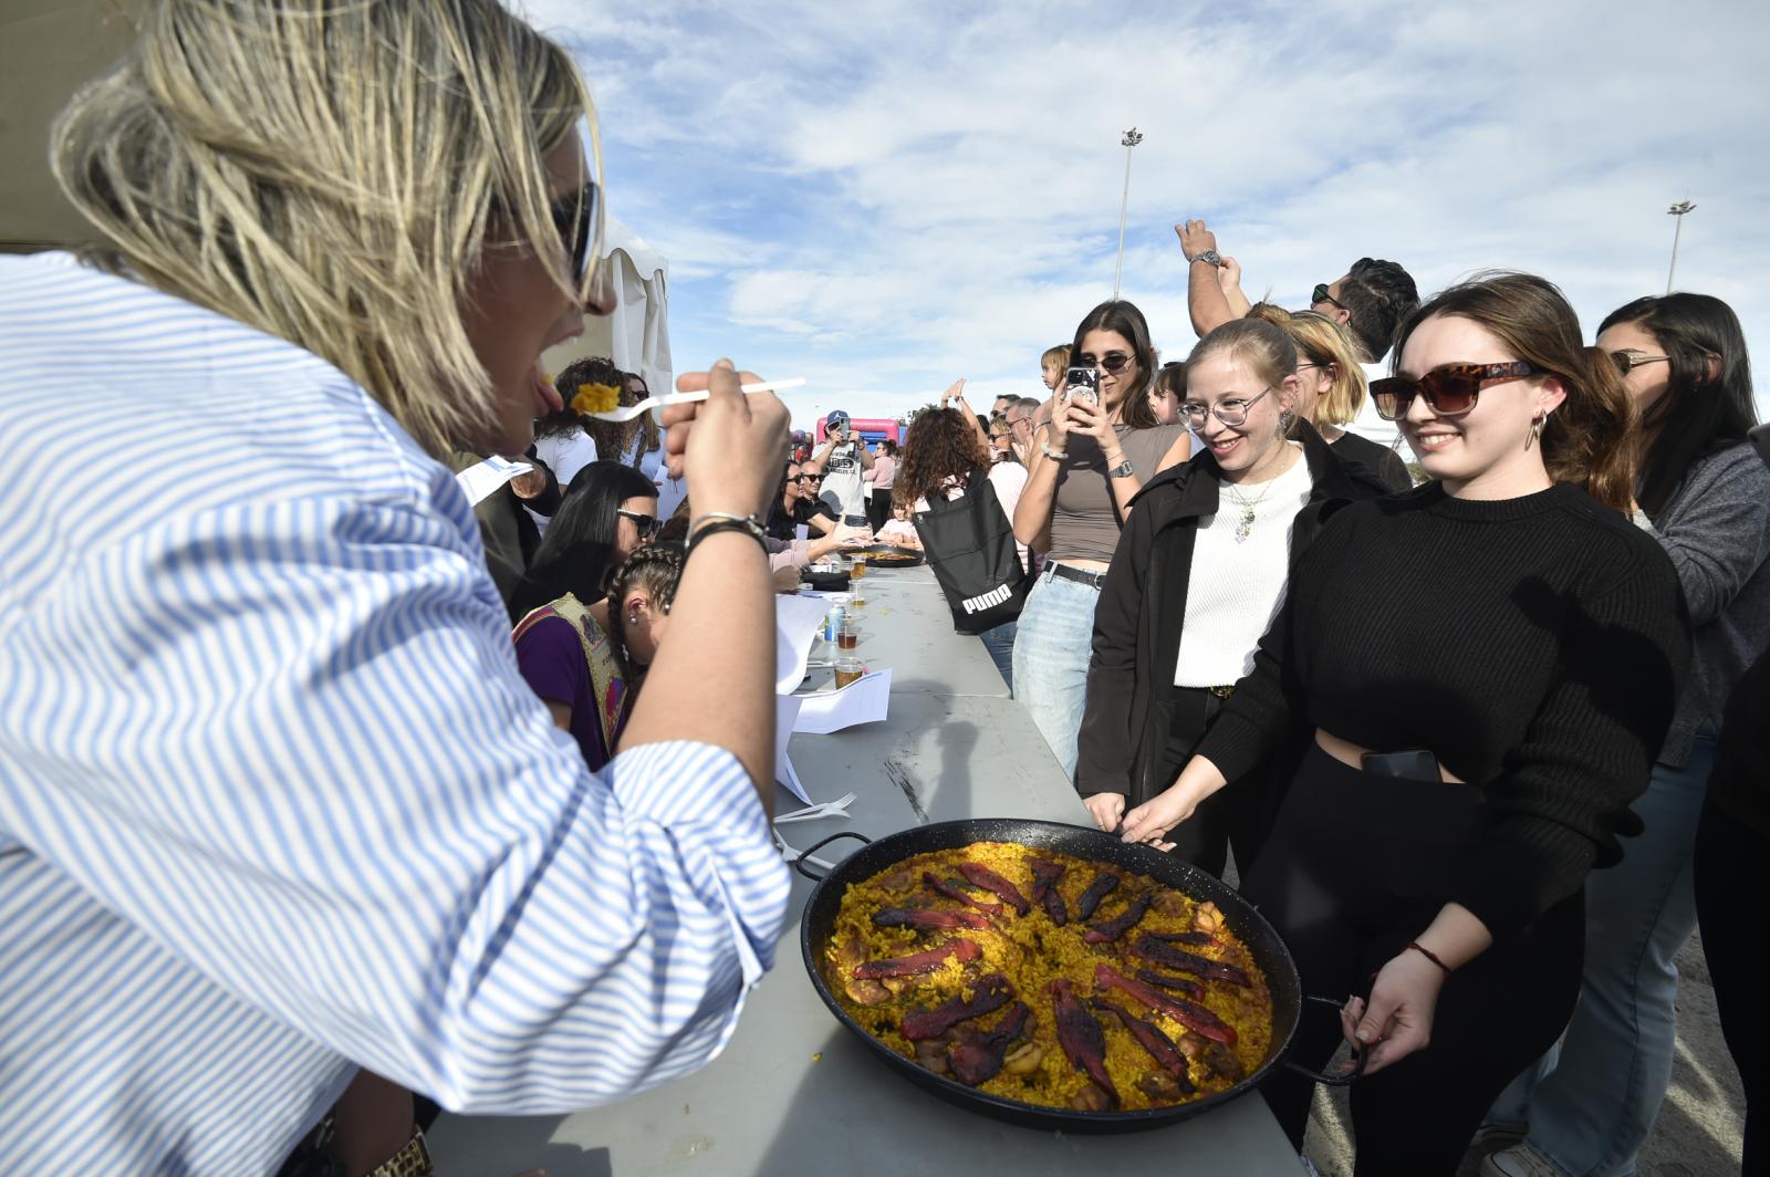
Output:
<path fill-rule="evenodd" d="M 1014 639 L 1014 694 L 1064 775 L 1089 685 L 1094 605 L 1131 499 L 1191 451 L 1184 425 L 1158 425 L 1149 404 L 1156 349 L 1131 303 L 1101 303 L 1076 327 L 1071 366 L 1096 386 L 1062 386 L 1035 418 L 1014 538 L 1044 552 Z"/>

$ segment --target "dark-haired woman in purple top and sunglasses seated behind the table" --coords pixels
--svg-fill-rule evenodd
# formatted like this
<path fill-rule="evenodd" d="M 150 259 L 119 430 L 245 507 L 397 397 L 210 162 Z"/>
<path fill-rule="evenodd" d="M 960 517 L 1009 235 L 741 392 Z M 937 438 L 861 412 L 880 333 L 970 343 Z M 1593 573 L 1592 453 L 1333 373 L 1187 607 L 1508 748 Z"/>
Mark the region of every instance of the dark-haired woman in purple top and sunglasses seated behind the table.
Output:
<path fill-rule="evenodd" d="M 591 462 L 572 480 L 515 595 L 517 667 L 591 770 L 614 758 L 632 710 L 611 641 L 605 581 L 657 526 L 657 487 L 644 474 Z"/>

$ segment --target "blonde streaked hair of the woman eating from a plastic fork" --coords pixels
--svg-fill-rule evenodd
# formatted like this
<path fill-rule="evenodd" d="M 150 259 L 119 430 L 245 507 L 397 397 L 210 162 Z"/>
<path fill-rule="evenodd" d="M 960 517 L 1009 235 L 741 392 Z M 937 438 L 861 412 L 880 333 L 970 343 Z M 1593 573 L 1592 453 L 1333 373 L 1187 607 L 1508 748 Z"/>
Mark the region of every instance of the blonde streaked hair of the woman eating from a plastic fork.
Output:
<path fill-rule="evenodd" d="M 158 0 L 51 135 L 94 264 L 281 336 L 432 453 L 496 421 L 462 324 L 489 248 L 570 273 L 543 158 L 595 108 L 496 0 Z M 600 204 L 600 202 L 598 202 Z"/>

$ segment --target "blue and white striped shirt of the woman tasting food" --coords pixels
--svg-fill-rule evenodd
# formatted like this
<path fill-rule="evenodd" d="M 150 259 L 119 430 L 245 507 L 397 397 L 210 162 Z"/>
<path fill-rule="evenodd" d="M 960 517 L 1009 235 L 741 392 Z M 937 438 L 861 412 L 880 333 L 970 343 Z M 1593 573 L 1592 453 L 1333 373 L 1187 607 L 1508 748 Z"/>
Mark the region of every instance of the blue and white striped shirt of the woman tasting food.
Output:
<path fill-rule="evenodd" d="M 788 897 L 749 779 L 586 772 L 361 388 L 0 258 L 0 1172 L 269 1172 L 358 1064 L 542 1113 L 720 1050 Z"/>

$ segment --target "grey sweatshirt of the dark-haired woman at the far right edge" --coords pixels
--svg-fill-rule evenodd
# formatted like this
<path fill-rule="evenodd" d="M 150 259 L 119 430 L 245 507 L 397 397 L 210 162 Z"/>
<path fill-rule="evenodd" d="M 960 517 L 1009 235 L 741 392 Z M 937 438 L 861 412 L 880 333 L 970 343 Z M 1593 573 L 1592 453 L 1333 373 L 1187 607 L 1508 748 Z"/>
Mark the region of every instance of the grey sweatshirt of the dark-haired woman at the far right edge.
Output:
<path fill-rule="evenodd" d="M 1770 648 L 1770 467 L 1751 444 L 1699 458 L 1648 533 L 1690 607 L 1690 680 L 1660 749 L 1683 768 L 1697 731 L 1715 735 L 1733 683 Z"/>

